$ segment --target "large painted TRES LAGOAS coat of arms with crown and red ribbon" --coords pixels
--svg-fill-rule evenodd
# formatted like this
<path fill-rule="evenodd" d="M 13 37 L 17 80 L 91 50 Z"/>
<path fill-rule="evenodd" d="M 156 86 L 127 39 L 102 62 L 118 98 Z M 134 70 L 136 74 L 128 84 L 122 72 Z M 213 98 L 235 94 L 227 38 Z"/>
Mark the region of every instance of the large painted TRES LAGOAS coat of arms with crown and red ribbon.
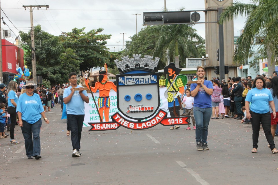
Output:
<path fill-rule="evenodd" d="M 89 131 L 116 130 L 121 126 L 134 130 L 148 129 L 159 123 L 164 126 L 191 124 L 189 123 L 190 116 L 171 116 L 168 118 L 167 112 L 159 109 L 159 78 L 158 73 L 155 72 L 159 62 L 158 57 L 156 57 L 155 60 L 152 60 L 153 56 L 145 55 L 144 58 L 141 58 L 141 55 L 136 54 L 133 55 L 133 58 L 124 56 L 121 59 L 121 61 L 118 59 L 115 60 L 116 66 L 120 71 L 120 74 L 116 75 L 115 90 L 117 92 L 118 112 L 111 115 L 112 122 L 88 122 L 88 124 L 92 126 Z M 178 71 L 178 73 L 180 72 L 178 68 L 173 67 L 169 71 L 171 71 L 171 74 L 173 71 L 173 74 L 175 74 L 175 71 Z M 100 74 L 102 73 L 100 72 Z M 99 108 L 104 105 L 102 101 L 107 102 L 102 98 L 109 97 L 109 91 L 111 88 L 115 88 L 112 84 L 108 86 L 109 83 L 106 81 L 105 77 L 107 75 L 107 70 L 103 73 L 103 75 L 103 79 L 100 78 L 100 82 L 96 82 L 96 86 L 94 88 L 90 88 L 94 92 L 96 92 L 97 89 L 100 90 L 98 103 Z M 183 90 L 184 84 L 187 82 L 187 78 L 183 75 L 176 77 L 177 75 L 178 74 L 175 74 L 173 76 L 173 79 L 177 80 L 176 84 L 173 79 L 169 81 L 169 84 L 173 82 L 171 86 L 175 86 L 177 89 L 176 91 L 179 92 L 181 91 L 180 87 Z M 106 84 L 107 87 L 105 87 Z M 101 92 L 101 90 L 103 90 L 103 92 Z M 174 96 L 179 95 L 177 92 L 171 94 L 172 99 Z M 183 91 L 180 92 L 180 95 L 182 92 Z M 102 114 L 101 110 L 100 112 Z"/>

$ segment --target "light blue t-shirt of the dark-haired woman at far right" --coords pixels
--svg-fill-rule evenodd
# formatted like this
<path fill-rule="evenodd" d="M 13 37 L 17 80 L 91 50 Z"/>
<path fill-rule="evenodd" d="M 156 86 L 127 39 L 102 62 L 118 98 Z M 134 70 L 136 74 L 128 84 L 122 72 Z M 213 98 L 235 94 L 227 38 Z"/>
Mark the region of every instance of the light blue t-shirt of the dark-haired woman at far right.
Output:
<path fill-rule="evenodd" d="M 269 89 L 253 88 L 248 91 L 245 101 L 251 102 L 250 110 L 258 114 L 265 114 L 269 111 L 269 101 L 272 101 Z"/>

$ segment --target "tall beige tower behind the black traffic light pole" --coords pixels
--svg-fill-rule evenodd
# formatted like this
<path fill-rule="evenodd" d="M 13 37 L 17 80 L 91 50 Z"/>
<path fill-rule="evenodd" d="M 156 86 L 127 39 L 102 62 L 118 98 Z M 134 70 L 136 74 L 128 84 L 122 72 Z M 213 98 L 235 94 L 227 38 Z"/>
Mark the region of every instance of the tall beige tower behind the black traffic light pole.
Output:
<path fill-rule="evenodd" d="M 217 9 L 223 8 L 223 10 L 228 7 L 233 0 L 204 0 L 205 9 Z M 205 21 L 206 22 L 216 22 L 218 21 L 217 11 L 206 11 L 205 12 Z M 216 50 L 219 47 L 219 29 L 217 23 L 207 23 L 206 26 L 206 53 L 209 54 L 209 60 L 206 61 L 206 76 L 209 79 L 217 76 L 213 72 L 215 66 L 219 66 L 219 61 L 216 60 L 217 52 Z M 229 22 L 223 24 L 224 32 L 224 62 L 225 66 L 230 66 L 229 74 L 225 75 L 225 79 L 229 76 L 237 76 L 237 65 L 233 64 L 233 54 L 234 54 L 234 23 L 233 19 Z M 220 59 L 221 60 L 221 59 Z"/>

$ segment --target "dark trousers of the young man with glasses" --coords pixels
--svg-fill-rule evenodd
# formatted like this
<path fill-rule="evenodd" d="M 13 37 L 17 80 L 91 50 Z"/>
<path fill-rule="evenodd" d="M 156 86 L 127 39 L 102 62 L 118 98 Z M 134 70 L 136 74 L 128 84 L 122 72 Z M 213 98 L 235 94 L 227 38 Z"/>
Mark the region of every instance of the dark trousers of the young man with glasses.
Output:
<path fill-rule="evenodd" d="M 81 148 L 80 140 L 81 140 L 81 132 L 83 128 L 84 114 L 75 115 L 75 114 L 67 114 L 67 121 L 69 122 L 69 128 L 71 132 L 72 139 L 72 150 L 76 149 L 79 151 Z"/>

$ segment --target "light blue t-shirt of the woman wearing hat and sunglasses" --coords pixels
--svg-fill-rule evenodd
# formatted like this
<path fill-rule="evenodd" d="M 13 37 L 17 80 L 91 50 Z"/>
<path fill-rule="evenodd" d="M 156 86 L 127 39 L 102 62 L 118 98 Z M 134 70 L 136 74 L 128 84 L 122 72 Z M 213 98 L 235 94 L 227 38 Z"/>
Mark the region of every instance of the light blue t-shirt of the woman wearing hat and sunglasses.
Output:
<path fill-rule="evenodd" d="M 17 101 L 17 112 L 21 112 L 21 119 L 34 124 L 41 119 L 41 113 L 44 111 L 41 98 L 34 93 L 28 96 L 26 93 L 20 95 Z"/>

